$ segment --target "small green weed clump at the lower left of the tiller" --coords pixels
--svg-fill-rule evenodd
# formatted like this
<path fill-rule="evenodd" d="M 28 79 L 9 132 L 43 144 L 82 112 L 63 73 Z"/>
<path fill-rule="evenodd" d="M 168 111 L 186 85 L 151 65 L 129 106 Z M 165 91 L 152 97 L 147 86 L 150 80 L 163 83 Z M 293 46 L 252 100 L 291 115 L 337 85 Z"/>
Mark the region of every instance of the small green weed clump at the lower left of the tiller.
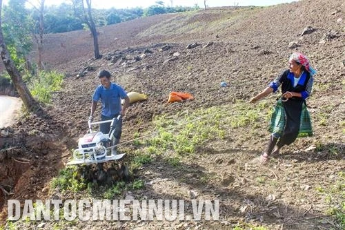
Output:
<path fill-rule="evenodd" d="M 77 166 L 61 169 L 57 178 L 52 179 L 52 188 L 59 187 L 61 191 L 77 192 L 86 189 L 87 184 L 78 176 Z"/>

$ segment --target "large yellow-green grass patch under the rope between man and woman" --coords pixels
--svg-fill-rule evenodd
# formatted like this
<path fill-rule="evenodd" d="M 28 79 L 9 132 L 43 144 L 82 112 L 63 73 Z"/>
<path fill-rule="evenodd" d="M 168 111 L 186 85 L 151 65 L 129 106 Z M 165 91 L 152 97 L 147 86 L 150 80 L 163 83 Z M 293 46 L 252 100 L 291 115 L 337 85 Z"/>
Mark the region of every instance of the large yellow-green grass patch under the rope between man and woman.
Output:
<path fill-rule="evenodd" d="M 139 149 L 132 158 L 130 169 L 139 169 L 155 156 L 162 157 L 171 166 L 180 166 L 183 160 L 193 157 L 207 142 L 224 139 L 233 129 L 263 123 L 268 119 L 266 114 L 269 110 L 268 102 L 253 105 L 239 101 L 230 106 L 154 117 L 157 133 L 141 140 L 140 144 L 135 143 Z M 135 138 L 138 137 L 136 133 Z"/>

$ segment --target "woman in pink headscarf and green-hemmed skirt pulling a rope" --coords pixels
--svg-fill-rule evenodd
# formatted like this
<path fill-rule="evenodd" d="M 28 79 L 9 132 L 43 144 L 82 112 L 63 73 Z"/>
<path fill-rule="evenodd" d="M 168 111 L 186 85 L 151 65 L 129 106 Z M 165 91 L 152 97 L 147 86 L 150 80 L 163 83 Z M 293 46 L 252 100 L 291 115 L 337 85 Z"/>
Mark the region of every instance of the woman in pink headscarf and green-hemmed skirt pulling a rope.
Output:
<path fill-rule="evenodd" d="M 311 95 L 313 75 L 316 71 L 310 66 L 308 58 L 294 52 L 288 59 L 288 70 L 284 70 L 262 93 L 251 98 L 254 103 L 282 86 L 282 98 L 278 99 L 271 117 L 270 140 L 260 159 L 268 162 L 270 154 L 279 153 L 284 145 L 293 143 L 297 136 L 311 136 L 311 119 L 306 108 L 306 98 Z"/>

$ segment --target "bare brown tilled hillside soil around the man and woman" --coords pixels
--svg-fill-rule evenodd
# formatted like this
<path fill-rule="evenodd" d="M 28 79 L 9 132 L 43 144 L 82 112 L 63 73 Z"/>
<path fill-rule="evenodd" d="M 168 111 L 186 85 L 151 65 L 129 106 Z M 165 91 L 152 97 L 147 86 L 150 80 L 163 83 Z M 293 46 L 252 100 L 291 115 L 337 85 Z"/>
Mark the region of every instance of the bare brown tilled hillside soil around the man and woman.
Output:
<path fill-rule="evenodd" d="M 167 127 L 158 127 L 157 120 L 183 124 L 188 116 L 204 118 L 206 123 L 197 123 L 201 126 L 217 123 L 221 133 L 212 133 L 193 154 L 168 151 L 150 156 L 151 161 L 135 171 L 144 188 L 124 191 L 115 199 L 219 199 L 220 221 L 73 222 L 75 228 L 228 229 L 239 224 L 248 229 L 251 224 L 267 229 L 337 229 L 326 191 L 344 184 L 344 11 L 342 1 L 315 0 L 146 17 L 99 28 L 99 60 L 92 59 L 89 32 L 46 35 L 46 67 L 65 73 L 66 79 L 43 115 L 25 115 L 10 127 L 12 137 L 0 137 L 0 144 L 8 147 L 0 155 L 0 185 L 8 184 L 14 193 L 6 198 L 83 198 L 48 188 L 87 131 L 91 95 L 99 84 L 96 75 L 107 69 L 128 92 L 148 95 L 147 101 L 128 108 L 121 142 Z M 307 26 L 316 30 L 301 36 Z M 194 43 L 200 46 L 186 48 Z M 213 44 L 204 47 L 208 43 Z M 267 117 L 278 95 L 255 106 L 244 102 L 288 68 L 295 50 L 304 52 L 317 69 L 307 102 L 315 135 L 287 146 L 268 166 L 258 166 L 255 159 L 266 146 Z M 167 61 L 172 57 L 177 59 Z M 85 76 L 77 77 L 83 70 L 88 70 Z M 221 88 L 222 81 L 228 87 Z M 171 91 L 191 93 L 195 100 L 168 104 Z M 245 125 L 234 126 L 232 119 L 237 118 Z M 146 153 L 147 143 L 120 146 L 128 153 L 126 162 Z M 339 190 L 344 193 L 344 186 Z M 4 200 L 0 197 L 0 206 Z M 53 227 L 54 222 L 45 225 Z"/>

